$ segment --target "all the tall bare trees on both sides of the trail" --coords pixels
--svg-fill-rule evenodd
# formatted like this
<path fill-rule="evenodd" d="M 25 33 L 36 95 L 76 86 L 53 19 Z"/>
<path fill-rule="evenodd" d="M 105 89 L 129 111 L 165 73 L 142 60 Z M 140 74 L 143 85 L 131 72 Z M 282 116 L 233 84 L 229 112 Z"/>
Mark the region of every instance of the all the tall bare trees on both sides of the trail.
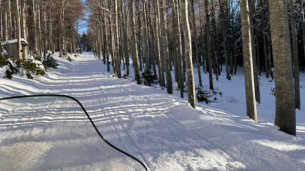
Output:
<path fill-rule="evenodd" d="M 42 55 L 51 50 L 64 56 L 80 50 L 77 32 L 84 16 L 80 0 L 0 3 L 2 40 L 17 38 L 21 48 L 23 37 L 30 44 L 23 52 L 30 54 Z M 198 70 L 199 86 L 201 68 L 209 72 L 209 88 L 213 90 L 213 74 L 218 81 L 223 65 L 228 80 L 236 74 L 238 65 L 244 65 L 247 114 L 256 121 L 255 101 L 260 103 L 258 75 L 264 71 L 267 78 L 274 77 L 274 68 L 275 122 L 282 130 L 286 131 L 287 126 L 291 131 L 294 117 L 294 133 L 290 133 L 295 134 L 294 109 L 300 109 L 298 70 L 305 64 L 303 2 L 289 2 L 289 15 L 286 0 L 240 0 L 239 4 L 234 0 L 84 2 L 89 43 L 109 72 L 112 66 L 121 78 L 123 62 L 129 75 L 131 57 L 138 84 L 140 71 L 149 68 L 159 75 L 159 84 L 172 94 L 170 71 L 174 67 L 181 97 L 187 79 L 188 101 L 195 107 L 193 67 Z M 23 53 L 23 58 L 27 53 Z"/>

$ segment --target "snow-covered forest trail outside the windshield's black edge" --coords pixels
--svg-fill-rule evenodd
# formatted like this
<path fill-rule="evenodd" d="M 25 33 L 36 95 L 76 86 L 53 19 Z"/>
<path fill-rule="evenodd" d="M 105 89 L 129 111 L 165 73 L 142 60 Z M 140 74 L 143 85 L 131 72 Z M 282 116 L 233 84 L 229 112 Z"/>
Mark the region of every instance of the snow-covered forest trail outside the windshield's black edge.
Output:
<path fill-rule="evenodd" d="M 45 77 L 0 78 L 0 96 L 72 96 L 109 142 L 145 162 L 149 170 L 305 168 L 304 134 L 285 134 L 273 124 L 201 104 L 193 109 L 187 99 L 112 77 L 90 53 L 72 57 L 71 62 L 56 60 L 58 69 Z"/>

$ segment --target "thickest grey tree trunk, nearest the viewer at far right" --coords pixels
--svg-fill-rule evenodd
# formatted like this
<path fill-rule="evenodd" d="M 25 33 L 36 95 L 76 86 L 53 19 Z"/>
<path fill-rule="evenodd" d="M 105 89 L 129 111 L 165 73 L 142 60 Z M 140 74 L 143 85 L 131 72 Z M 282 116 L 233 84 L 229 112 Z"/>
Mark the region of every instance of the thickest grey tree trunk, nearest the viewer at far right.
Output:
<path fill-rule="evenodd" d="M 286 0 L 269 0 L 270 29 L 275 74 L 275 124 L 296 135 L 296 103 L 291 68 L 291 49 Z"/>

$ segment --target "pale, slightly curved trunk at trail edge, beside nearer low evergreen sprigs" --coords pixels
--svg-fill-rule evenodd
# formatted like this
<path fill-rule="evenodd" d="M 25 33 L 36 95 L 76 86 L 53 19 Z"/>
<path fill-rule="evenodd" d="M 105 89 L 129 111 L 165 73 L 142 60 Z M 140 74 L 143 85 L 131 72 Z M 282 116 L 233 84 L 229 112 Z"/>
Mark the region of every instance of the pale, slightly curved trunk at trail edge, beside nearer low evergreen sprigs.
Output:
<path fill-rule="evenodd" d="M 196 108 L 195 83 L 192 65 L 192 41 L 191 30 L 188 24 L 188 2 L 181 0 L 181 22 L 183 27 L 185 42 L 185 65 L 188 79 L 188 102 L 193 108 Z"/>

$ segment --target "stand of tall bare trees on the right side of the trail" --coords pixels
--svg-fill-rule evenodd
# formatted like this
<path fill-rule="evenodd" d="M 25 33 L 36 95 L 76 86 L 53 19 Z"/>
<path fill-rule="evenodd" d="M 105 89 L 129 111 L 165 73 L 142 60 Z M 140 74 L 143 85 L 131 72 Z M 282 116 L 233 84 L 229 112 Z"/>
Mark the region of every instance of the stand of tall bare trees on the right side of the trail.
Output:
<path fill-rule="evenodd" d="M 301 67 L 305 63 L 304 52 L 298 55 L 304 49 L 300 44 L 305 33 L 302 27 L 302 3 L 294 4 L 290 1 L 290 15 L 287 4 L 280 6 L 270 0 L 249 0 L 249 3 L 246 0 L 87 0 L 85 5 L 90 11 L 88 35 L 92 39 L 94 52 L 107 64 L 109 72 L 109 58 L 112 58 L 112 70 L 117 72 L 119 78 L 121 62 L 129 74 L 129 57 L 132 57 L 138 84 L 142 68 L 153 69 L 154 75 L 159 75 L 159 84 L 166 86 L 167 92 L 171 94 L 173 87 L 170 71 L 174 67 L 175 81 L 180 85 L 181 97 L 187 78 L 188 101 L 195 107 L 193 67 L 198 70 L 199 86 L 202 86 L 200 69 L 209 72 L 210 89 L 213 90 L 213 73 L 218 81 L 224 65 L 226 78 L 231 80 L 238 65 L 243 64 L 247 114 L 256 121 L 255 101 L 260 103 L 258 75 L 263 71 L 267 78 L 273 78 L 271 69 L 274 68 L 277 91 L 276 124 L 281 125 L 285 131 L 285 126 L 279 122 L 285 122 L 286 125 L 288 121 L 287 117 L 282 117 L 287 113 L 289 116 L 295 115 L 287 105 L 294 103 L 293 109 L 300 109 L 299 65 Z M 286 44 L 279 41 L 284 40 L 282 34 L 272 31 L 272 5 L 283 8 L 278 9 L 277 15 L 284 15 L 286 20 L 289 17 L 291 21 L 290 25 L 288 20 L 285 22 L 285 27 L 289 28 L 285 30 L 288 35 Z M 279 23 L 282 20 L 275 18 L 273 22 Z M 245 29 L 249 29 L 249 35 Z M 282 47 L 275 46 L 276 41 Z M 278 57 L 277 53 L 273 53 L 275 49 L 283 50 L 288 46 L 292 47 L 292 53 L 284 54 L 285 59 L 283 54 Z M 299 63 L 299 59 L 303 63 Z M 291 85 L 293 79 L 294 85 Z M 289 82 L 285 88 L 284 82 Z M 288 95 L 288 92 L 292 94 Z M 288 100 L 289 103 L 286 103 Z"/>

